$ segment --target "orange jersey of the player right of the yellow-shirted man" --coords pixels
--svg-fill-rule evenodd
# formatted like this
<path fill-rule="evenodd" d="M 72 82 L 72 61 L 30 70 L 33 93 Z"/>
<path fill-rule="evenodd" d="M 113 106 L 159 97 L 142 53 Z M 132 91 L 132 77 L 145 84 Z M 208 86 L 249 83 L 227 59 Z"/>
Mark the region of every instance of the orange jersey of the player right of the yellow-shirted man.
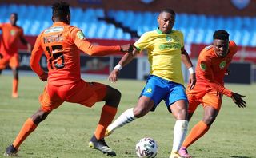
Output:
<path fill-rule="evenodd" d="M 215 89 L 231 97 L 231 91 L 224 87 L 224 76 L 232 61 L 232 57 L 237 51 L 238 47 L 234 41 L 230 41 L 229 53 L 226 57 L 218 57 L 214 53 L 213 45 L 202 49 L 196 67 L 197 85 L 203 85 L 205 88 L 202 87 L 202 89 Z"/>

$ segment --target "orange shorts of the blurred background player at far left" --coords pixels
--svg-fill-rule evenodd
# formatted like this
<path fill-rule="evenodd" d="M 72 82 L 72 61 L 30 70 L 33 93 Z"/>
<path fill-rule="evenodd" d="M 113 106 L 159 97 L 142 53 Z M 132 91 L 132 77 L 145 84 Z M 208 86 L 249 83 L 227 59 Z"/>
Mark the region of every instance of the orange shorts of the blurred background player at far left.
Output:
<path fill-rule="evenodd" d="M 11 57 L 2 56 L 2 58 L 0 58 L 0 69 L 6 69 L 8 63 L 10 68 L 17 68 L 19 66 L 18 53 L 15 53 Z"/>

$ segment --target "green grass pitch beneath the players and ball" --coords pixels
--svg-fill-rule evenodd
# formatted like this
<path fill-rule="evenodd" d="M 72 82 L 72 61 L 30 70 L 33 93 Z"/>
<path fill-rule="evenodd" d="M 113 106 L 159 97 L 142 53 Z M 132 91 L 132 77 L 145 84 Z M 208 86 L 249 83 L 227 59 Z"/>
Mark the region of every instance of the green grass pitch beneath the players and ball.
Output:
<path fill-rule="evenodd" d="M 90 79 L 88 81 L 94 81 Z M 138 101 L 145 81 L 119 80 L 112 84 L 106 80 L 95 80 L 111 85 L 122 92 L 118 117 L 124 110 Z M 6 147 L 17 136 L 23 122 L 39 107 L 38 95 L 46 83 L 38 77 L 20 77 L 19 98 L 12 99 L 12 76 L 0 76 L 0 157 Z M 227 84 L 228 89 L 246 95 L 246 109 L 239 109 L 230 98 L 224 97 L 222 109 L 210 128 L 200 140 L 190 146 L 195 158 L 256 157 L 256 85 Z M 87 144 L 98 123 L 103 102 L 89 109 L 82 105 L 64 103 L 39 124 L 21 145 L 18 154 L 22 157 L 106 157 L 91 150 Z M 202 118 L 202 107 L 190 121 L 189 130 Z M 149 113 L 106 138 L 106 142 L 117 152 L 116 157 L 136 157 L 135 144 L 142 137 L 150 136 L 158 142 L 158 156 L 170 156 L 173 140 L 174 117 L 168 113 L 164 102 L 154 113 Z"/>

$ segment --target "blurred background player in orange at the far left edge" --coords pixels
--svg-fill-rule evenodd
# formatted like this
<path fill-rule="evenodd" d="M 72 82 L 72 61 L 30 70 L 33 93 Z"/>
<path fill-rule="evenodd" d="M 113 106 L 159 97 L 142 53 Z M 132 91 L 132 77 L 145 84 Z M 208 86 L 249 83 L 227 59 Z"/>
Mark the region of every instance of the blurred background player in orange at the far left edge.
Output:
<path fill-rule="evenodd" d="M 18 97 L 18 41 L 27 46 L 27 51 L 31 52 L 31 45 L 26 41 L 23 30 L 17 26 L 18 14 L 10 14 L 10 23 L 0 24 L 2 37 L 0 38 L 0 74 L 6 65 L 10 65 L 14 73 L 12 97 Z"/>

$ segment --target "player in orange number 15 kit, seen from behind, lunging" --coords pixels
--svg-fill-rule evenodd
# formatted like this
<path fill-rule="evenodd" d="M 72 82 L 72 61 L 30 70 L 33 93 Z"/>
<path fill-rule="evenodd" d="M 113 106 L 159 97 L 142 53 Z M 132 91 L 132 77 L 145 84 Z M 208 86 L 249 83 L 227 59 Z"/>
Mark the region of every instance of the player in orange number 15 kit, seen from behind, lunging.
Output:
<path fill-rule="evenodd" d="M 102 46 L 91 45 L 81 30 L 70 26 L 70 8 L 66 2 L 57 2 L 52 6 L 54 24 L 38 35 L 32 51 L 30 66 L 41 81 L 48 81 L 40 95 L 41 107 L 26 120 L 14 142 L 6 148 L 6 156 L 14 156 L 19 146 L 46 119 L 52 110 L 64 101 L 79 103 L 91 107 L 98 101 L 105 101 L 98 126 L 90 139 L 90 148 L 98 149 L 104 154 L 115 156 L 104 140 L 107 126 L 114 119 L 121 93 L 108 85 L 86 82 L 80 76 L 80 52 L 89 55 L 104 56 L 118 52 L 132 52 L 132 45 Z M 49 72 L 39 65 L 42 52 L 47 57 Z"/>

